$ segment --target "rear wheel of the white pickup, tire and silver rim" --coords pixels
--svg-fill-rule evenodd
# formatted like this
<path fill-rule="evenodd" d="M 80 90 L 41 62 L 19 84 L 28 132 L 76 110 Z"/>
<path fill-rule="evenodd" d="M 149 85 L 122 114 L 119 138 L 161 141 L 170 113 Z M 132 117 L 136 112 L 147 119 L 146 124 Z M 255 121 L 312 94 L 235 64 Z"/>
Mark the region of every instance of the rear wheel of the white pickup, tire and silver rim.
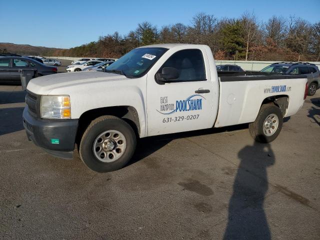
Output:
<path fill-rule="evenodd" d="M 280 133 L 282 123 L 281 110 L 275 105 L 263 104 L 255 121 L 249 123 L 249 132 L 256 141 L 270 142 Z"/>

